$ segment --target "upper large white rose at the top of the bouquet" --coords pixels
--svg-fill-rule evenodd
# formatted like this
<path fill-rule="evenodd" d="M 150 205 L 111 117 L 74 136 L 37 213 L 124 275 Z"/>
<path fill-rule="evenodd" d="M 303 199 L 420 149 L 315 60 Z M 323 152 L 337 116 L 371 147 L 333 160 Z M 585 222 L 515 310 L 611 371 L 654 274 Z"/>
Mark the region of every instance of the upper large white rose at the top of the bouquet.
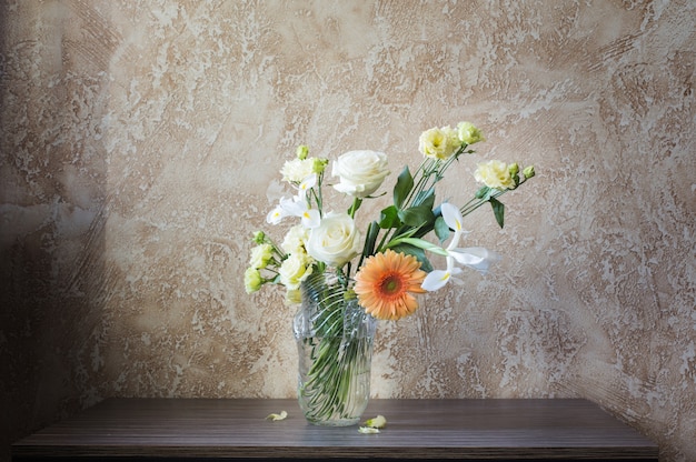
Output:
<path fill-rule="evenodd" d="M 332 177 L 340 178 L 334 188 L 356 198 L 377 191 L 388 174 L 387 155 L 376 151 L 346 152 L 334 162 L 331 171 Z"/>

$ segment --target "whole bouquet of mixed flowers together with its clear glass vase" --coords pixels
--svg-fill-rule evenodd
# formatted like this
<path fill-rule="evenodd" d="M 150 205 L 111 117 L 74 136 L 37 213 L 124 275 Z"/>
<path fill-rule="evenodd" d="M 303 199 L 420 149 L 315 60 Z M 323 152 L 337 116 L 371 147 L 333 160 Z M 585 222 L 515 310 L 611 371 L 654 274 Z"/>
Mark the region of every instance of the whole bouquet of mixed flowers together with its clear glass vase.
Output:
<path fill-rule="evenodd" d="M 365 200 L 378 199 L 389 175 L 384 152 L 350 151 L 331 165 L 331 187 L 346 204 L 330 209 L 325 202 L 329 160 L 310 157 L 301 145 L 287 161 L 282 179 L 292 188 L 268 213 L 269 224 L 290 221 L 277 243 L 262 231 L 253 235 L 248 293 L 262 285 L 286 289 L 286 301 L 299 304 L 294 330 L 298 340 L 298 398 L 305 416 L 322 425 L 349 425 L 359 420 L 369 398 L 369 372 L 377 320 L 398 320 L 418 309 L 418 294 L 457 281 L 464 268 L 486 273 L 499 260 L 481 247 L 460 248 L 466 235 L 464 218 L 485 203 L 504 225 L 499 197 L 534 177 L 534 167 L 517 163 L 479 163 L 481 183 L 463 205 L 438 202 L 436 184 L 470 148 L 484 141 L 469 122 L 456 128 L 426 130 L 419 138 L 422 160 L 411 172 L 398 174 L 391 203 L 364 230 L 356 215 Z M 430 259 L 445 264 L 435 268 Z"/>

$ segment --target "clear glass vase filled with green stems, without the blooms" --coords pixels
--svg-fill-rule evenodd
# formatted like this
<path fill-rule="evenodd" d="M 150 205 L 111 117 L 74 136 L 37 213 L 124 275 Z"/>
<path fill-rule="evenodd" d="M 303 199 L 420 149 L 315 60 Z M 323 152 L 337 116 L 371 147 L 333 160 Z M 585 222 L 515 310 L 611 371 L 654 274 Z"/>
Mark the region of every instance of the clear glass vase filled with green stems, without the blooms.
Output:
<path fill-rule="evenodd" d="M 299 353 L 298 400 L 315 425 L 360 421 L 370 395 L 370 365 L 377 320 L 334 273 L 309 277 L 294 331 Z"/>

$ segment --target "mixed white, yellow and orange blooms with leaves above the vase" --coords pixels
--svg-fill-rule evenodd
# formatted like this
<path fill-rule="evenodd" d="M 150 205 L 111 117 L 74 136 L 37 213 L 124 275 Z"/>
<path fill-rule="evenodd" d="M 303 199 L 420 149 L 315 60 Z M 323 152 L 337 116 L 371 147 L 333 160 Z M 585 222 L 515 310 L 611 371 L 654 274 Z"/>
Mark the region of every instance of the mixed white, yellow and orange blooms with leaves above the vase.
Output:
<path fill-rule="evenodd" d="M 534 177 L 534 167 L 520 171 L 517 163 L 493 160 L 479 163 L 475 179 L 480 188 L 464 205 L 437 203 L 435 185 L 471 144 L 485 141 L 469 122 L 456 128 L 431 128 L 419 137 L 422 160 L 411 173 L 408 165 L 398 175 L 392 202 L 365 232 L 358 229 L 356 213 L 381 188 L 389 175 L 387 155 L 376 151 L 350 151 L 331 165 L 332 187 L 351 198 L 346 211 L 327 211 L 324 188 L 329 167 L 325 158 L 309 157 L 301 145 L 296 158 L 280 173 L 295 190 L 268 213 L 267 222 L 278 224 L 294 219 L 282 242 L 257 231 L 249 268 L 245 272 L 248 293 L 265 284 L 281 284 L 288 303 L 300 303 L 300 287 L 311 274 L 334 271 L 347 297 L 356 297 L 367 313 L 381 320 L 398 320 L 418 309 L 419 293 L 436 291 L 456 280 L 461 267 L 486 273 L 499 260 L 496 252 L 480 247 L 459 248 L 466 235 L 464 217 L 488 202 L 503 228 L 505 207 L 501 194 L 517 189 Z M 437 242 L 425 239 L 434 232 Z M 445 242 L 449 243 L 445 245 Z M 445 258 L 444 269 L 435 269 L 429 255 Z"/>

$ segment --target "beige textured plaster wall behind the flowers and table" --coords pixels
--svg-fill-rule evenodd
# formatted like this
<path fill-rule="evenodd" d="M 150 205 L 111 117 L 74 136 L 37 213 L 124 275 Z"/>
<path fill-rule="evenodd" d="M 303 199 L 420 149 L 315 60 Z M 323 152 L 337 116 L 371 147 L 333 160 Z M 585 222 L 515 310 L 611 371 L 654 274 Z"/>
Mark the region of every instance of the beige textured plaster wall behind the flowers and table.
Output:
<path fill-rule="evenodd" d="M 696 2 L 0 14 L 0 458 L 110 395 L 295 395 L 292 313 L 241 282 L 278 169 L 307 143 L 397 172 L 421 130 L 470 120 L 488 142 L 443 194 L 480 159 L 538 177 L 505 230 L 467 222 L 493 274 L 380 324 L 374 395 L 584 396 L 696 460 Z"/>

